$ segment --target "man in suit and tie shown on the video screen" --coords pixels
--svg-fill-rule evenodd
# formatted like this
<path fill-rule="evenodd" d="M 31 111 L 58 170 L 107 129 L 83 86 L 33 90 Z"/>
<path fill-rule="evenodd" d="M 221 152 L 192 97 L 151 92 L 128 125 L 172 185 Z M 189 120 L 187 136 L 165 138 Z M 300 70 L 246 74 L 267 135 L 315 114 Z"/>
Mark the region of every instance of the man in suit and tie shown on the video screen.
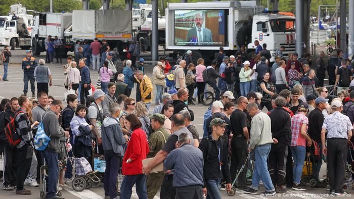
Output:
<path fill-rule="evenodd" d="M 198 13 L 195 15 L 195 27 L 188 30 L 187 42 L 200 43 L 200 42 L 212 42 L 211 31 L 207 28 L 203 28 L 204 18 L 203 15 Z"/>

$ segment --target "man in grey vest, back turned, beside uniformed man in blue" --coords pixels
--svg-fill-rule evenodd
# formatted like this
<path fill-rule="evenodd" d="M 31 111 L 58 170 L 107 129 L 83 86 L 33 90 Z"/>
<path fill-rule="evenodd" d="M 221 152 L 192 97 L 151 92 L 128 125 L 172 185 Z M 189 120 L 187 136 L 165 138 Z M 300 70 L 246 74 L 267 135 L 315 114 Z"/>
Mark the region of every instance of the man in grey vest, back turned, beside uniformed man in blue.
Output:
<path fill-rule="evenodd" d="M 46 92 L 48 94 L 48 83 L 52 86 L 52 73 L 48 66 L 45 66 L 46 61 L 40 59 L 39 66 L 35 67 L 33 76 L 37 82 L 37 94 L 39 92 Z"/>

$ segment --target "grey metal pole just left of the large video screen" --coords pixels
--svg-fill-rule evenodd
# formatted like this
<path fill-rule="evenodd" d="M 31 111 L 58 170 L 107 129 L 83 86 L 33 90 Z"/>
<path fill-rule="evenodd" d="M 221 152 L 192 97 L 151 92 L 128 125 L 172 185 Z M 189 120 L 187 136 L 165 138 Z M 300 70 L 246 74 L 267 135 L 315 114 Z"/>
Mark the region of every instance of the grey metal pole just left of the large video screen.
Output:
<path fill-rule="evenodd" d="M 157 61 L 159 55 L 158 0 L 151 0 L 151 3 L 152 3 L 151 60 Z"/>

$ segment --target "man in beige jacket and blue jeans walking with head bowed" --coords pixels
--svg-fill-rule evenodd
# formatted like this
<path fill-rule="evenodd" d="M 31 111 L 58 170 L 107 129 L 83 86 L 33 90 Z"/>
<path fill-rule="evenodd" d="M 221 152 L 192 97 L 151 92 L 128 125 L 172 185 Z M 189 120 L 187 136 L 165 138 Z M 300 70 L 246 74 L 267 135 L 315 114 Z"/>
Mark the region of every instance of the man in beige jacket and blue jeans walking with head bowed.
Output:
<path fill-rule="evenodd" d="M 254 151 L 256 161 L 254 166 L 255 172 L 252 176 L 252 185 L 243 191 L 249 194 L 258 194 L 259 182 L 261 180 L 266 189 L 263 194 L 267 196 L 274 195 L 276 192 L 268 171 L 267 160 L 271 151 L 271 144 L 278 141 L 272 139 L 271 118 L 259 110 L 255 103 L 248 103 L 246 109 L 252 117 L 248 151 Z"/>

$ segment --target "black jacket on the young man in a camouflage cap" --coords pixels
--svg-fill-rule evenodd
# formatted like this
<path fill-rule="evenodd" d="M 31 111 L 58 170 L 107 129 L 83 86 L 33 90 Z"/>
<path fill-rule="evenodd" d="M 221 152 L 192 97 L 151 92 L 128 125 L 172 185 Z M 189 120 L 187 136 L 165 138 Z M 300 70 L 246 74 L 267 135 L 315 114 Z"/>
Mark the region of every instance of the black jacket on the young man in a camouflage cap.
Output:
<path fill-rule="evenodd" d="M 207 137 L 208 138 L 203 138 L 199 145 L 199 149 L 203 152 L 204 159 L 204 187 L 205 181 L 208 179 L 216 180 L 224 178 L 226 180 L 226 183 L 231 183 L 231 175 L 228 162 L 228 148 L 226 147 L 225 142 L 222 141 L 222 139 L 220 138 L 217 142 L 213 141 L 211 135 L 208 135 Z M 218 143 L 218 145 L 221 145 L 220 161 L 218 159 L 218 148 L 216 146 L 216 143 Z M 211 144 L 211 147 L 209 147 L 209 144 Z M 222 163 L 222 172 L 220 172 L 220 162 Z"/>

